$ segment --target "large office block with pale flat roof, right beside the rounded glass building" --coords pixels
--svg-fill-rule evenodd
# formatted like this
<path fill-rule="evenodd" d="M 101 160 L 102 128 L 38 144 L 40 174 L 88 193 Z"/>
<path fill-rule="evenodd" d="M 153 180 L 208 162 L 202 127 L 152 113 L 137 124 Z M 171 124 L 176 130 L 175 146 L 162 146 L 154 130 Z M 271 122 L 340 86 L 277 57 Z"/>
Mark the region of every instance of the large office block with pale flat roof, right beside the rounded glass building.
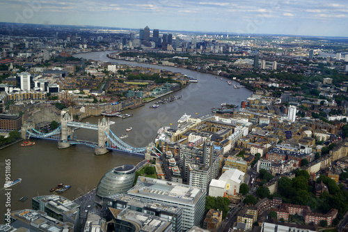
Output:
<path fill-rule="evenodd" d="M 127 192 L 131 196 L 156 203 L 169 203 L 182 207 L 182 230 L 202 222 L 205 211 L 204 189 L 180 183 L 139 176 L 136 185 Z"/>

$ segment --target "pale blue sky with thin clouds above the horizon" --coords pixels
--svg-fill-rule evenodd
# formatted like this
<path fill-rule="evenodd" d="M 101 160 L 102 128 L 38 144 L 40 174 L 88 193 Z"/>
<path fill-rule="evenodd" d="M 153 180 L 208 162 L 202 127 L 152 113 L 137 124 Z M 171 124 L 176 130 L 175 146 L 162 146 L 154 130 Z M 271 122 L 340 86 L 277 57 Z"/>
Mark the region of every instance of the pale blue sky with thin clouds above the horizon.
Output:
<path fill-rule="evenodd" d="M 347 0 L 1 0 L 1 22 L 347 36 Z"/>

